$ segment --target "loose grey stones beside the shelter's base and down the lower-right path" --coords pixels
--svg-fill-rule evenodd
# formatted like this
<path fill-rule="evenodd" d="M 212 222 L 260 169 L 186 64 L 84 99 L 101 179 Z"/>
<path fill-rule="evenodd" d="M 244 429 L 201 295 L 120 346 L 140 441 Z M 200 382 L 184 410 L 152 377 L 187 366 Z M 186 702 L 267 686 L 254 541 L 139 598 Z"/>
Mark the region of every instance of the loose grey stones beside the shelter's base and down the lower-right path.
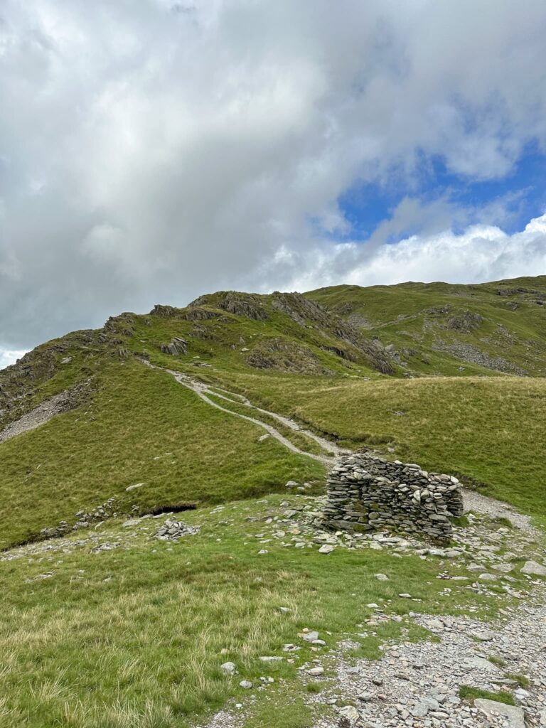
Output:
<path fill-rule="evenodd" d="M 296 547 L 306 547 L 312 539 L 326 558 L 336 548 L 344 547 L 389 549 L 401 557 L 409 552 L 421 558 L 440 556 L 445 561 L 438 562 L 438 579 L 445 579 L 447 591 L 451 588 L 450 580 L 456 579 L 466 582 L 466 588 L 496 599 L 498 593 L 490 585 L 501 585 L 515 602 L 515 606 L 501 610 L 501 620 L 491 625 L 471 616 L 421 614 L 419 600 L 415 599 L 415 611 L 410 617 L 430 631 L 426 641 L 386 644 L 384 657 L 371 661 L 352 657 L 357 644 L 347 638 L 338 649 L 328 650 L 317 660 L 301 665 L 303 695 L 305 684 L 310 681 L 323 684 L 319 695 L 306 697 L 317 713 L 328 716 L 317 719 L 314 728 L 546 726 L 546 585 L 536 574 L 528 574 L 526 588 L 516 589 L 512 585 L 515 579 L 510 576 L 515 568 L 525 568 L 513 563 L 522 553 L 537 558 L 538 571 L 546 573 L 537 540 L 539 534 L 528 518 L 505 504 L 473 494 L 467 499 L 467 511 L 474 512 L 467 513 L 470 523 L 455 530 L 454 545 L 440 549 L 417 539 L 384 534 L 350 537 L 321 533 L 314 523 L 320 499 L 314 500 L 314 507 L 304 506 L 295 516 L 300 530 Z M 498 526 L 498 522 L 491 520 L 507 517 L 514 528 Z M 264 549 L 268 542 L 284 537 L 274 523 L 258 534 Z M 468 571 L 475 573 L 475 581 L 464 576 L 448 577 L 441 569 L 447 561 L 464 563 Z M 376 578 L 389 577 L 376 574 Z M 412 599 L 411 594 L 405 596 Z M 363 633 L 373 633 L 376 625 L 392 618 L 375 605 L 375 615 L 362 625 Z M 328 640 L 327 635 L 312 636 Z M 296 639 L 295 642 L 293 649 L 297 649 Z M 461 692 L 465 688 L 467 697 Z M 479 693 L 471 691 L 477 690 L 505 692 L 515 705 L 480 697 L 474 702 Z M 252 703 L 253 697 L 249 697 L 246 705 L 240 703 L 221 711 L 206 728 L 243 728 L 245 713 Z"/>

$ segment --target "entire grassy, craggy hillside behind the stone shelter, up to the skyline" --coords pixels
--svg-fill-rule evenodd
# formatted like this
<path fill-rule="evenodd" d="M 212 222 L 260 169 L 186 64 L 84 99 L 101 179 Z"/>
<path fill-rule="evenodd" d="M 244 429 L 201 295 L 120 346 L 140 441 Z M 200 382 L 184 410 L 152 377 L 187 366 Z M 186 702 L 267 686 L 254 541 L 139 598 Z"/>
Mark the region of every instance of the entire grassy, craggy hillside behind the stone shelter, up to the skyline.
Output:
<path fill-rule="evenodd" d="M 133 505 L 220 502 L 278 490 L 289 479 L 323 479 L 317 462 L 261 440 L 261 428 L 210 408 L 136 357 L 248 395 L 349 447 L 453 470 L 546 515 L 544 380 L 462 365 L 435 348 L 439 339 L 479 344 L 491 360 L 540 373 L 545 277 L 341 286 L 307 296 L 320 305 L 299 294 L 224 292 L 186 309 L 121 314 L 1 372 L 0 431 L 59 392 L 68 389 L 73 400 L 71 411 L 0 443 L 1 545 L 72 523 L 76 512 L 112 496 L 127 513 Z M 186 342 L 183 353 L 162 350 L 174 337 Z M 413 353 L 405 355 L 400 342 L 410 340 Z M 424 376 L 431 369 L 436 376 Z M 284 434 L 317 452 L 300 435 Z"/>

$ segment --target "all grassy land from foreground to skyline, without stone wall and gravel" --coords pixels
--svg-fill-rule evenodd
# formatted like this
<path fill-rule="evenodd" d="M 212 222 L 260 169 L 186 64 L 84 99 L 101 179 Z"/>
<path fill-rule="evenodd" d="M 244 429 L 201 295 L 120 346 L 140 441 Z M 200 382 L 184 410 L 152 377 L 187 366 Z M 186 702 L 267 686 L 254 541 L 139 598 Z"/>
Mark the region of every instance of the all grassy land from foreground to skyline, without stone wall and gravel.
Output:
<path fill-rule="evenodd" d="M 488 518 L 478 540 L 493 549 L 478 561 L 494 569 L 488 559 L 502 553 L 513 571 L 486 588 L 468 588 L 477 532 L 465 519 L 454 558 L 333 534 L 335 553 L 320 554 L 321 502 L 306 494 L 323 492 L 315 458 L 330 443 L 278 416 L 459 474 L 546 525 L 545 284 L 219 292 L 121 314 L 0 372 L 0 549 L 60 521 L 71 529 L 111 498 L 117 514 L 0 552 L 0 727 L 186 728 L 229 697 L 245 700 L 246 678 L 245 728 L 272 715 L 306 728 L 305 691 L 334 684 L 328 656 L 340 641 L 376 657 L 385 640 L 422 637 L 412 599 L 427 614 L 487 616 L 510 606 L 508 582 L 523 598 L 519 566 L 542 558 L 537 534 Z M 52 402 L 60 414 L 39 419 Z M 28 422 L 44 424 L 22 432 Z M 302 495 L 287 480 L 313 486 Z M 188 505 L 181 518 L 200 533 L 158 541 L 158 512 Z M 306 627 L 326 645 L 305 643 Z M 293 662 L 288 643 L 301 648 Z M 259 659 L 268 655 L 282 659 Z M 317 659 L 319 682 L 298 669 Z M 228 660 L 237 676 L 221 670 Z"/>

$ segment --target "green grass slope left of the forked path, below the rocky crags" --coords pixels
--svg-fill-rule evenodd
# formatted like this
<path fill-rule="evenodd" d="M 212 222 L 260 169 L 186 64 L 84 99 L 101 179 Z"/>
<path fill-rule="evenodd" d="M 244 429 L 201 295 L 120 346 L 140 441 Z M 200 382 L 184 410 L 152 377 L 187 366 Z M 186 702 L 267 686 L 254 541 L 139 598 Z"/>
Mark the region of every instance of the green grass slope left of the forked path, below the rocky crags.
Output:
<path fill-rule="evenodd" d="M 180 501 L 223 502 L 323 479 L 323 466 L 264 430 L 203 403 L 172 376 L 108 363 L 84 408 L 0 446 L 0 545 L 89 510 L 111 496 L 128 513 Z M 126 493 L 134 483 L 142 488 Z"/>

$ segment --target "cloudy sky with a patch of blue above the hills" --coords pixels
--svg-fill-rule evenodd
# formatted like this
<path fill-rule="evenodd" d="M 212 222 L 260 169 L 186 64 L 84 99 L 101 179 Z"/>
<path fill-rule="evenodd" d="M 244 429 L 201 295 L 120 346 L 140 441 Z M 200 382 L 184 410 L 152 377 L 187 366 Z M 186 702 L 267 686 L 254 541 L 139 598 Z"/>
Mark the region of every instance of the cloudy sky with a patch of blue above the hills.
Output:
<path fill-rule="evenodd" d="M 546 3 L 2 0 L 0 367 L 214 290 L 546 274 Z"/>

